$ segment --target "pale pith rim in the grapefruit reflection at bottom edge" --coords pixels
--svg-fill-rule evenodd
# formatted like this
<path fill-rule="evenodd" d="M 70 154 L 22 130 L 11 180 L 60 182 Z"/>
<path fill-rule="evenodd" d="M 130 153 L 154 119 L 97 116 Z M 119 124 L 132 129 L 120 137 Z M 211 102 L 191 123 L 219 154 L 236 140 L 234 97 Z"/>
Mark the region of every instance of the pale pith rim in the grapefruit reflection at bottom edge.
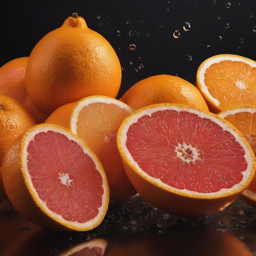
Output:
<path fill-rule="evenodd" d="M 99 247 L 102 249 L 102 255 L 104 255 L 105 251 L 106 251 L 106 247 L 108 245 L 108 242 L 103 239 L 103 238 L 96 238 L 87 242 L 83 242 L 79 245 L 75 245 L 72 248 L 70 248 L 69 250 L 58 254 L 59 256 L 70 256 L 72 254 L 75 254 L 76 252 L 80 252 L 82 249 L 84 248 L 89 248 L 92 249 L 93 247 Z"/>

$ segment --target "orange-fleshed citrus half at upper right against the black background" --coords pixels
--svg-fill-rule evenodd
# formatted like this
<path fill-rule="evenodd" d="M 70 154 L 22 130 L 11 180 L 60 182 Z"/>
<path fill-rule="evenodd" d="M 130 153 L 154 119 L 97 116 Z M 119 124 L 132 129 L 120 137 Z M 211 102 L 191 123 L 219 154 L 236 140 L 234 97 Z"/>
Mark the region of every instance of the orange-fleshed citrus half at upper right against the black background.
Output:
<path fill-rule="evenodd" d="M 230 106 L 256 105 L 255 83 L 256 62 L 233 54 L 208 58 L 196 75 L 196 87 L 214 113 Z"/>

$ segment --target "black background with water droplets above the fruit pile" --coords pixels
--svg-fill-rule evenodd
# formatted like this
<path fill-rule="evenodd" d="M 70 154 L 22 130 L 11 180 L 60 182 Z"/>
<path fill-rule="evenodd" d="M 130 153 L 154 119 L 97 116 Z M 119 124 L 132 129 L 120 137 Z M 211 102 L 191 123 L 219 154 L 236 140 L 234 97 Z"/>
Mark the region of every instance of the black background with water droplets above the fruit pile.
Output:
<path fill-rule="evenodd" d="M 256 60 L 255 0 L 9 0 L 1 6 L 0 65 L 29 56 L 38 40 L 78 12 L 119 57 L 123 68 L 119 96 L 156 74 L 177 75 L 194 83 L 200 63 L 216 54 Z M 189 31 L 183 30 L 184 22 L 190 22 Z M 179 38 L 173 37 L 176 29 Z M 129 31 L 134 35 L 129 36 Z M 136 50 L 128 48 L 131 43 Z M 144 67 L 138 69 L 141 63 Z"/>

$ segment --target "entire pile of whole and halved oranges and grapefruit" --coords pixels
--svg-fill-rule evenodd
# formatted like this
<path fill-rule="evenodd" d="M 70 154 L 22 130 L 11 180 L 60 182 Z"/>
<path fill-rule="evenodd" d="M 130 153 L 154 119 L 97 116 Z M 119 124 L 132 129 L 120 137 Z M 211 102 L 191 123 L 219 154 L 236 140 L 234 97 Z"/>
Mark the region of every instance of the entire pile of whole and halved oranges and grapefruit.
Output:
<path fill-rule="evenodd" d="M 213 56 L 196 87 L 160 74 L 117 100 L 120 84 L 114 49 L 77 13 L 2 66 L 0 198 L 42 227 L 77 231 L 135 193 L 182 216 L 242 193 L 256 207 L 255 61 Z"/>

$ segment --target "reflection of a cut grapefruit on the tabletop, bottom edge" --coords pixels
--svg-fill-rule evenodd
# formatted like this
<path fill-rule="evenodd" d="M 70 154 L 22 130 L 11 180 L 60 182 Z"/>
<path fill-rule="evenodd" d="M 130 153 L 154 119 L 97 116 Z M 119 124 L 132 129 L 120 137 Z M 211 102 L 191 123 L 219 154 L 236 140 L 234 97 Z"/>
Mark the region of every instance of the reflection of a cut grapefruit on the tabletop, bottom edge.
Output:
<path fill-rule="evenodd" d="M 107 245 L 108 242 L 105 239 L 97 238 L 75 245 L 58 256 L 103 256 Z"/>

